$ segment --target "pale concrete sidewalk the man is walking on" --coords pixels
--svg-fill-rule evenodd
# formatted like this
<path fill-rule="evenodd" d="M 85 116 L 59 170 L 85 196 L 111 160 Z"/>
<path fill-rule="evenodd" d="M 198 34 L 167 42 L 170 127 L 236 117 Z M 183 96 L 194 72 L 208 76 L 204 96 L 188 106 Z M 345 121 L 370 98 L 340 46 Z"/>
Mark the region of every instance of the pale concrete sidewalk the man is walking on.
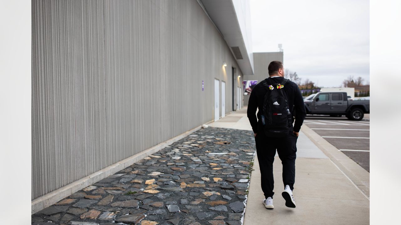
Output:
<path fill-rule="evenodd" d="M 226 122 L 227 121 L 227 122 Z M 219 121 L 209 124 L 214 127 L 251 130 L 246 117 L 246 108 L 233 112 Z M 274 209 L 265 209 L 260 186 L 260 171 L 257 155 L 249 186 L 244 225 L 254 224 L 369 224 L 369 199 L 302 131 L 298 138 L 296 179 L 294 198 L 297 207 L 285 206 L 281 192 L 282 165 L 277 154 L 273 164 L 275 177 Z"/>

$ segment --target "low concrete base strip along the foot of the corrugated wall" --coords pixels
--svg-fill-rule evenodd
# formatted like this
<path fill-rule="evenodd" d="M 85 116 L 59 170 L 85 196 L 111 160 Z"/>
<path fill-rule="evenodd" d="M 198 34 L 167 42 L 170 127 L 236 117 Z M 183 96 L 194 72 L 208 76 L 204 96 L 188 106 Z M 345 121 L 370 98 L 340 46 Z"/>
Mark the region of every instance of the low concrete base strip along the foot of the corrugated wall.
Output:
<path fill-rule="evenodd" d="M 209 121 L 207 123 L 210 123 L 212 121 Z M 190 135 L 191 133 L 198 131 L 201 129 L 201 126 L 195 127 L 194 129 L 191 129 L 185 133 L 182 133 L 176 137 L 173 137 L 171 139 L 168 139 L 167 141 L 164 141 L 158 145 L 155 145 L 149 149 L 146 149 L 140 153 L 137 153 L 131 157 L 128 157 L 127 159 L 123 159 L 122 161 L 119 161 L 117 163 L 114 163 L 113 165 L 110 165 L 106 168 L 103 168 L 95 173 L 92 173 L 86 177 L 83 177 L 77 181 L 74 181 L 73 183 L 70 183 L 68 185 L 65 185 L 64 187 L 61 187 L 59 189 L 56 189 L 54 191 L 51 191 L 41 197 L 38 197 L 36 199 L 33 199 L 31 202 L 31 213 L 37 213 L 38 211 L 41 211 L 42 209 L 45 209 L 46 207 L 49 207 L 61 199 L 68 197 L 69 195 L 72 195 L 73 193 L 89 186 L 92 185 L 101 179 L 104 179 L 110 175 L 113 175 L 114 173 L 117 173 L 120 170 L 123 170 L 130 165 L 140 161 L 141 159 L 147 157 L 148 155 L 152 155 L 153 153 L 158 152 L 160 149 L 163 149 L 167 147 L 168 145 L 171 145 L 172 143 Z"/>

